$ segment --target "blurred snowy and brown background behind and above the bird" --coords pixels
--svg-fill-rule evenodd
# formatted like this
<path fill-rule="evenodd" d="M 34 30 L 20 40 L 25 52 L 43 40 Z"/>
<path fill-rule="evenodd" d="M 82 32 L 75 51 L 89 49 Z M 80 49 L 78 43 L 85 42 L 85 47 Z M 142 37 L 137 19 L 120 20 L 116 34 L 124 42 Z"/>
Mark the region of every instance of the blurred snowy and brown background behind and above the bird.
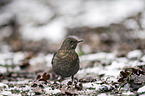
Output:
<path fill-rule="evenodd" d="M 81 54 L 123 55 L 144 49 L 144 10 L 144 0 L 0 0 L 0 51 L 53 53 L 75 35 Z"/>

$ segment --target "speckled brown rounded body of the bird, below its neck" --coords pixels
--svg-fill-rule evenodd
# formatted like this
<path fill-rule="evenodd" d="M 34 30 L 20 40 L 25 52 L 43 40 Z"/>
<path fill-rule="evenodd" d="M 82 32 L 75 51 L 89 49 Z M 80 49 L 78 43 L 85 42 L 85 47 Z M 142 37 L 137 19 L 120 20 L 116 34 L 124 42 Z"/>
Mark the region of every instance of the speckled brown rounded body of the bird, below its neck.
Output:
<path fill-rule="evenodd" d="M 59 50 L 53 59 L 53 70 L 62 77 L 75 75 L 79 70 L 79 58 L 73 50 Z"/>

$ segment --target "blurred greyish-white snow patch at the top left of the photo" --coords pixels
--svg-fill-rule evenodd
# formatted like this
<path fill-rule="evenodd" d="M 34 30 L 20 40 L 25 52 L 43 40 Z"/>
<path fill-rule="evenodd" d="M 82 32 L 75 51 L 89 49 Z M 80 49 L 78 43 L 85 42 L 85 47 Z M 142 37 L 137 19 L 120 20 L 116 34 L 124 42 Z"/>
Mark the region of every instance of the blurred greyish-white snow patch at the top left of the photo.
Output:
<path fill-rule="evenodd" d="M 9 10 L 11 9 L 11 11 Z M 44 23 L 54 15 L 49 6 L 46 6 L 36 0 L 13 0 L 7 6 L 6 12 L 18 16 L 19 23 L 25 25 L 26 23 Z M 23 19 L 22 19 L 23 18 Z"/>

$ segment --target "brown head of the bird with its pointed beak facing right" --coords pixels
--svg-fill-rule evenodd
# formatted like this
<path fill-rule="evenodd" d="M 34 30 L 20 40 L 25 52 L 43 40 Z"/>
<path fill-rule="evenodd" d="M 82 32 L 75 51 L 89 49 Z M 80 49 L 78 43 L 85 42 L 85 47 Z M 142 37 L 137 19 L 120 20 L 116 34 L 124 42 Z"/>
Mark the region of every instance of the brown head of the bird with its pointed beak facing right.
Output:
<path fill-rule="evenodd" d="M 83 40 L 77 40 L 75 37 L 67 37 L 63 41 L 60 49 L 65 49 L 65 50 L 75 49 L 77 44 L 82 41 Z"/>

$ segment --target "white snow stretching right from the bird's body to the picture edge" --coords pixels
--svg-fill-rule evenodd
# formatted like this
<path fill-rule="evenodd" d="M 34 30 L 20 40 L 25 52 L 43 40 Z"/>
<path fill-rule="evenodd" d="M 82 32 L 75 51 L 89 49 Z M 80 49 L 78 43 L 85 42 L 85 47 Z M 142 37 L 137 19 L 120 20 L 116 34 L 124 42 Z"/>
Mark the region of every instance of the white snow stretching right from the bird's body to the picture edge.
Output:
<path fill-rule="evenodd" d="M 142 55 L 140 50 L 133 50 L 129 52 L 133 57 L 140 57 Z M 133 55 L 132 55 L 133 54 Z M 130 58 L 132 58 L 129 55 Z M 144 57 L 142 57 L 144 58 Z M 126 57 L 117 58 L 115 53 L 96 53 L 96 54 L 89 54 L 80 56 L 81 66 L 85 66 L 85 64 L 89 64 L 88 62 L 91 61 L 100 61 L 101 64 L 106 64 L 104 67 L 101 66 L 101 64 L 96 64 L 95 66 L 91 68 L 84 68 L 79 70 L 77 73 L 78 77 L 85 77 L 88 74 L 89 75 L 99 75 L 99 74 L 105 74 L 105 76 L 113 76 L 114 78 L 117 78 L 120 74 L 120 71 L 123 70 L 125 67 L 136 67 L 138 65 L 144 65 L 144 63 L 139 62 L 138 60 L 128 60 Z M 111 64 L 110 64 L 110 63 Z M 116 81 L 116 79 L 113 79 Z"/>

